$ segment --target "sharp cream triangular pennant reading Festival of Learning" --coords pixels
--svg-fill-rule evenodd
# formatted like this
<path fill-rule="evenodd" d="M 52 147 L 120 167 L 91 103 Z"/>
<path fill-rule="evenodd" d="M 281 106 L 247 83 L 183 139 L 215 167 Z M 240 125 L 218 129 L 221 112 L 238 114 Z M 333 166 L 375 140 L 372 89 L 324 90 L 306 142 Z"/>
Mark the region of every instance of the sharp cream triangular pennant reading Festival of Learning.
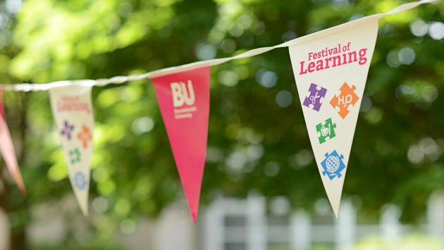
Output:
<path fill-rule="evenodd" d="M 336 216 L 377 35 L 378 18 L 362 18 L 289 47 L 310 142 Z"/>

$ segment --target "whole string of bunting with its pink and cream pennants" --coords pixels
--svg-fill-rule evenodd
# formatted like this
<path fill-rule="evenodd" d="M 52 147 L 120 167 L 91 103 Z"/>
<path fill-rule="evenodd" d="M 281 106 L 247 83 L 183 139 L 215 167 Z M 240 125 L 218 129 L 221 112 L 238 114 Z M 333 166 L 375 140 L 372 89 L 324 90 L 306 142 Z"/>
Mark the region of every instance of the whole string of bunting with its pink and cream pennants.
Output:
<path fill-rule="evenodd" d="M 359 106 L 374 53 L 378 20 L 435 1 L 402 4 L 388 13 L 369 15 L 283 44 L 252 49 L 228 58 L 109 79 L 1 85 L 0 90 L 49 91 L 69 179 L 80 209 L 87 215 L 94 130 L 92 87 L 152 79 L 180 181 L 195 223 L 206 156 L 210 67 L 288 47 L 316 165 L 333 211 L 338 216 L 345 174 L 349 168 L 354 168 L 348 162 Z M 0 152 L 18 187 L 25 193 L 1 98 L 0 114 Z"/>

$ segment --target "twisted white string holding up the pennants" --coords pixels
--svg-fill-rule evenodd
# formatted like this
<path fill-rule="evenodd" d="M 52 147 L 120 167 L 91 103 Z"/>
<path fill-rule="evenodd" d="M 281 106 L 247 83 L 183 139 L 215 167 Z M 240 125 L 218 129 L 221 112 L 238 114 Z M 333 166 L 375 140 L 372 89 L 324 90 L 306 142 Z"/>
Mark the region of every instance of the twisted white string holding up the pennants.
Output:
<path fill-rule="evenodd" d="M 306 35 L 304 37 L 298 37 L 296 39 L 292 39 L 288 42 L 284 42 L 283 44 L 278 44 L 276 46 L 271 46 L 271 47 L 252 49 L 252 50 L 246 51 L 242 54 L 238 54 L 237 56 L 231 56 L 231 57 L 227 57 L 227 58 L 216 58 L 216 59 L 212 59 L 212 60 L 208 60 L 208 61 L 197 61 L 194 63 L 178 65 L 178 66 L 171 67 L 171 68 L 163 68 L 161 70 L 154 70 L 152 72 L 139 74 L 139 75 L 116 76 L 116 77 L 111 77 L 108 79 L 98 79 L 98 80 L 66 80 L 66 81 L 39 83 L 39 84 L 19 83 L 19 84 L 11 84 L 11 85 L 0 85 L 0 89 L 4 89 L 6 91 L 30 92 L 30 91 L 48 90 L 48 89 L 51 89 L 54 87 L 63 87 L 63 86 L 68 86 L 68 85 L 82 85 L 82 86 L 105 86 L 105 85 L 110 85 L 110 84 L 120 85 L 124 82 L 132 82 L 132 81 L 142 80 L 142 79 L 146 79 L 146 78 L 154 78 L 154 77 L 160 77 L 163 75 L 180 73 L 180 72 L 184 72 L 184 71 L 188 71 L 188 70 L 193 70 L 196 68 L 209 67 L 209 66 L 218 65 L 221 63 L 226 63 L 228 61 L 235 60 L 235 59 L 257 56 L 259 54 L 263 54 L 263 53 L 265 53 L 267 51 L 271 51 L 273 49 L 284 48 L 284 47 L 292 46 L 295 44 L 300 44 L 302 42 L 307 42 L 311 39 L 318 39 L 319 37 L 331 35 L 334 32 L 340 31 L 345 25 L 347 25 L 347 27 L 362 25 L 362 23 L 369 22 L 370 20 L 383 18 L 386 15 L 392 15 L 395 13 L 401 13 L 404 11 L 408 11 L 409 9 L 416 8 L 417 6 L 419 6 L 421 4 L 430 4 L 430 3 L 434 3 L 434 2 L 438 2 L 438 1 L 439 0 L 421 0 L 421 1 L 416 1 L 416 2 L 412 2 L 412 3 L 408 3 L 408 4 L 402 4 L 387 13 L 369 15 L 364 18 L 360 18 L 360 19 L 353 20 L 348 23 L 344 23 L 342 25 L 338 25 L 335 27 L 328 28 L 326 30 L 321 30 L 319 32 L 312 33 L 310 35 Z"/>

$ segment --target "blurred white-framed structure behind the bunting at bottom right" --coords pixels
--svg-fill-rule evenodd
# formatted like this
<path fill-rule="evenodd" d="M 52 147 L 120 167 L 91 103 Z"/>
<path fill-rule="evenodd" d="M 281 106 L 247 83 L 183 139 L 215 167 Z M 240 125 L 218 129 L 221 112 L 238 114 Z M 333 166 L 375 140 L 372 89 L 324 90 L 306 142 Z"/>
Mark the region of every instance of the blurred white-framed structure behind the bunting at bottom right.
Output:
<path fill-rule="evenodd" d="M 273 203 L 272 203 L 273 204 Z M 403 235 L 419 232 L 444 237 L 444 194 L 433 194 L 425 211 L 423 225 L 402 225 L 400 210 L 388 204 L 381 211 L 380 221 L 374 224 L 358 222 L 358 213 L 352 202 L 344 199 L 338 218 L 331 213 L 328 201 L 323 202 L 321 213 L 310 216 L 300 210 L 288 213 L 285 199 L 280 198 L 266 210 L 261 196 L 246 200 L 221 198 L 204 215 L 201 249 L 211 250 L 307 250 L 316 244 L 343 249 L 364 237 L 379 235 L 389 241 Z"/>

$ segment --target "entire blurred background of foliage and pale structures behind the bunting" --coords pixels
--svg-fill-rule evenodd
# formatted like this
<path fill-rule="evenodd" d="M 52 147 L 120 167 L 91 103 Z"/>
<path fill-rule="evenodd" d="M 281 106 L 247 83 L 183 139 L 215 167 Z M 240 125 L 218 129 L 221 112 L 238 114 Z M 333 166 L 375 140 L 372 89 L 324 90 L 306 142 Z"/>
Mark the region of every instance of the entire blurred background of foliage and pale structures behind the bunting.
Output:
<path fill-rule="evenodd" d="M 0 83 L 233 56 L 405 2 L 0 1 Z M 0 161 L 0 249 L 444 249 L 443 19 L 440 2 L 380 20 L 338 219 L 288 49 L 211 68 L 197 225 L 149 80 L 93 89 L 89 218 L 73 197 L 48 93 L 5 92 L 28 194 Z"/>

